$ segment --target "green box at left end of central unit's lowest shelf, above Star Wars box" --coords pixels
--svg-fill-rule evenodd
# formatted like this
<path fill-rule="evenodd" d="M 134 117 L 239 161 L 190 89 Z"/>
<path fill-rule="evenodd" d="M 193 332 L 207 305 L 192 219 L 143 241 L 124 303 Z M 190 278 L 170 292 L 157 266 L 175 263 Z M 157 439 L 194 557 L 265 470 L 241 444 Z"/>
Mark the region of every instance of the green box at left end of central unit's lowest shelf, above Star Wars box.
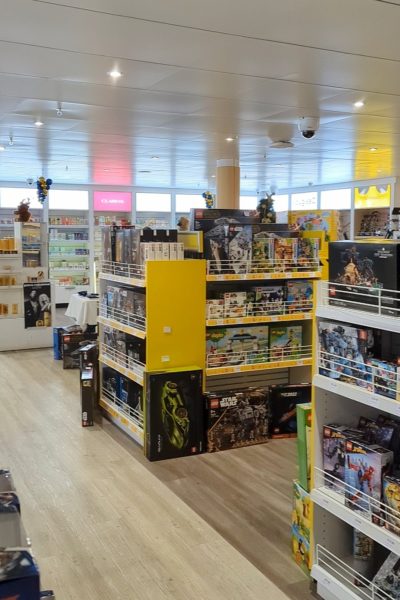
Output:
<path fill-rule="evenodd" d="M 216 327 L 206 333 L 207 366 L 267 362 L 268 326 Z"/>

